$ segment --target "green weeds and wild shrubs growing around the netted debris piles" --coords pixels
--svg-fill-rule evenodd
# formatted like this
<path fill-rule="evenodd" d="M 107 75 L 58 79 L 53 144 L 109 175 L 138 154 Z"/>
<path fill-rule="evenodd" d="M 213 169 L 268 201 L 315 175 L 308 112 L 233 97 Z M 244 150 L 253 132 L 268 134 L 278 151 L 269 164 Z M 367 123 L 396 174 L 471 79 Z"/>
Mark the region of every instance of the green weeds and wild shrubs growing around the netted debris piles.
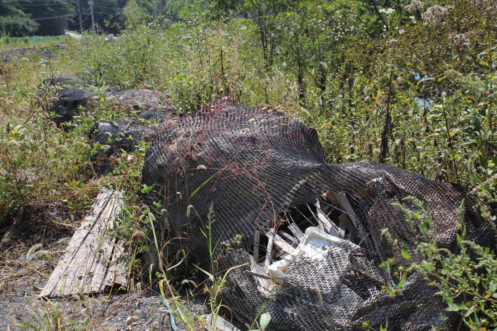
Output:
<path fill-rule="evenodd" d="M 128 192 L 129 208 L 112 235 L 133 250 L 132 278 L 159 277 L 164 296 L 175 298 L 177 317 L 195 328 L 174 289 L 188 280 L 171 279 L 158 264 L 179 262 L 161 250 L 166 241 L 157 241 L 166 229 L 157 225 L 156 236 L 141 230 L 154 224 L 140 202 L 146 146 L 137 142 L 113 176 L 95 178 L 88 135 L 96 121 L 119 114 L 102 96 L 71 130 L 57 128 L 46 111 L 51 90 L 41 84 L 57 73 L 88 73 L 98 88 L 157 89 L 180 114 L 223 96 L 244 106 L 269 104 L 316 128 L 330 163 L 366 159 L 459 184 L 479 197 L 482 216 L 495 223 L 489 210 L 497 183 L 496 1 L 192 1 L 172 2 L 158 17 L 149 9 L 128 2 L 122 38 L 68 39 L 57 57 L 0 63 L 2 251 L 45 205 L 63 202 L 81 213 L 99 186 L 119 187 Z M 425 216 L 406 213 L 420 224 L 412 228 L 427 263 L 385 261 L 397 279 L 385 290 L 398 295 L 403 275 L 421 272 L 471 330 L 495 330 L 494 253 L 465 242 L 464 224 L 459 254 L 436 248 L 426 230 L 429 211 L 416 203 Z M 476 260 L 468 258 L 469 248 Z M 225 275 L 213 270 L 203 271 L 211 280 L 202 292 L 217 312 Z M 193 287 L 192 294 L 202 289 Z"/>

